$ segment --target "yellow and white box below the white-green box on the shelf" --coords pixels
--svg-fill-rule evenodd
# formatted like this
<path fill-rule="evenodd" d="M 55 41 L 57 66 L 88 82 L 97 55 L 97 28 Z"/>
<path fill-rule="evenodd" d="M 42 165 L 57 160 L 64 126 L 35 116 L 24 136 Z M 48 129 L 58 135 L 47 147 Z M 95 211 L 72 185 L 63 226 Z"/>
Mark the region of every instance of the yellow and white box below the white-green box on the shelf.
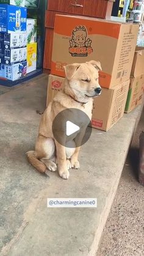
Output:
<path fill-rule="evenodd" d="M 27 74 L 37 69 L 37 43 L 27 44 Z"/>

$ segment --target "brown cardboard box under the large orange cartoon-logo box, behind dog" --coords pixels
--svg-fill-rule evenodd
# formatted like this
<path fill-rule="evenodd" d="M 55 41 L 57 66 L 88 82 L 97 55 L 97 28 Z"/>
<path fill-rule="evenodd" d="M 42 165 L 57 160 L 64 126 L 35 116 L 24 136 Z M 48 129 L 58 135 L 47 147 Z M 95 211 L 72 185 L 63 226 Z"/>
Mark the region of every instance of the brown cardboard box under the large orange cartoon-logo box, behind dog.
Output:
<path fill-rule="evenodd" d="M 64 78 L 49 75 L 46 106 L 54 98 L 57 91 L 62 90 Z M 128 95 L 129 80 L 112 89 L 102 89 L 99 97 L 93 101 L 92 127 L 108 131 L 124 114 Z"/>

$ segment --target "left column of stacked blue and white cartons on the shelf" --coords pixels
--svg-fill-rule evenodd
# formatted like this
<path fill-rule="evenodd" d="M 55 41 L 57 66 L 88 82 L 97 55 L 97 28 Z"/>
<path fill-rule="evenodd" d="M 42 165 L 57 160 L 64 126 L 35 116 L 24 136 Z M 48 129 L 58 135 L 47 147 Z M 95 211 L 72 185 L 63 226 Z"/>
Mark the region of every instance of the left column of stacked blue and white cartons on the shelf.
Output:
<path fill-rule="evenodd" d="M 0 76 L 12 81 L 26 76 L 26 15 L 24 7 L 0 4 Z"/>

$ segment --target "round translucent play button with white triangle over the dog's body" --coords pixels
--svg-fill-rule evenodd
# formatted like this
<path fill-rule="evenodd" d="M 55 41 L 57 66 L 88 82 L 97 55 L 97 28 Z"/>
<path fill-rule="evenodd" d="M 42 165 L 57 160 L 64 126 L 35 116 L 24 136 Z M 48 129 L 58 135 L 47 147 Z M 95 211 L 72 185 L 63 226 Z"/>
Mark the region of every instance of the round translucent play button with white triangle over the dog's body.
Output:
<path fill-rule="evenodd" d="M 85 134 L 82 124 L 84 123 L 84 128 L 86 128 Z M 82 140 L 78 134 L 84 135 Z M 76 147 L 81 147 L 88 141 L 90 134 L 92 133 L 92 124 L 91 121 L 85 112 L 75 109 L 68 108 L 64 109 L 56 115 L 55 119 L 52 122 L 52 133 L 54 139 L 65 147 L 65 142 L 70 142 L 74 140 Z M 73 143 L 69 143 L 67 147 L 73 148 Z"/>

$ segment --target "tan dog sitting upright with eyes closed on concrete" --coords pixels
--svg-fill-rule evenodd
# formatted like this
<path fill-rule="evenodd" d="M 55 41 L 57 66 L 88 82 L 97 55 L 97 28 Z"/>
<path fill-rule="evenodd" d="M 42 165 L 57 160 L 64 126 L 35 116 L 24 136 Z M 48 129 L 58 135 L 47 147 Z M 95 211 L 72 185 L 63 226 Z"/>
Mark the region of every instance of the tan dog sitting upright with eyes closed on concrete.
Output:
<path fill-rule="evenodd" d="M 99 70 L 101 70 L 101 64 L 95 60 L 65 66 L 64 88 L 57 92 L 42 115 L 35 151 L 27 152 L 29 162 L 39 172 L 48 174 L 48 170 L 55 172 L 58 167 L 60 177 L 68 179 L 70 175 L 68 169 L 79 168 L 80 147 L 75 148 L 74 138 L 71 140 L 73 148 L 68 148 L 67 142 L 65 146 L 59 144 L 52 134 L 52 122 L 60 111 L 70 108 L 79 109 L 85 112 L 90 120 L 92 119 L 93 98 L 101 93 L 98 82 Z M 77 120 L 79 118 L 81 117 L 77 117 Z M 88 123 L 84 123 L 79 131 L 79 145 L 87 125 Z M 63 133 L 63 131 L 60 132 Z"/>

